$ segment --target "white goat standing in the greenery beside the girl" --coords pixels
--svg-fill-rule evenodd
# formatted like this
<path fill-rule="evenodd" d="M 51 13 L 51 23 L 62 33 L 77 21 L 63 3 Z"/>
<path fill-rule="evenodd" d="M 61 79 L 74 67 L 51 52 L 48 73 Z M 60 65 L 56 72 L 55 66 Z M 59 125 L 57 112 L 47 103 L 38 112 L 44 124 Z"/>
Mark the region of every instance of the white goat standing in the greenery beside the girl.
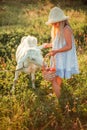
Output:
<path fill-rule="evenodd" d="M 31 74 L 32 87 L 35 88 L 35 72 L 43 65 L 41 49 L 44 46 L 37 46 L 37 38 L 25 36 L 16 51 L 16 71 L 12 90 L 14 90 L 19 72 Z"/>

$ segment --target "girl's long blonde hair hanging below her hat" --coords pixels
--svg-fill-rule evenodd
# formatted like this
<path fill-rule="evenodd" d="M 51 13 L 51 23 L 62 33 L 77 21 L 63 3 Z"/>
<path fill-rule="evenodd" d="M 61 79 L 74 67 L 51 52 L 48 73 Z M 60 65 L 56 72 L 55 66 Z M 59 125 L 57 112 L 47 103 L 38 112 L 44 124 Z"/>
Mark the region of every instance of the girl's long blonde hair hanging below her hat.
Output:
<path fill-rule="evenodd" d="M 63 29 L 64 27 L 68 25 L 70 27 L 70 24 L 67 20 L 65 21 L 61 21 L 60 24 L 59 24 L 59 41 L 63 42 L 64 40 L 64 32 L 63 32 Z M 70 27 L 71 28 L 71 27 Z M 52 41 L 54 40 L 55 36 L 56 36 L 56 30 L 57 28 L 55 28 L 54 26 L 52 26 L 52 30 L 51 30 L 51 38 L 52 38 Z"/>

